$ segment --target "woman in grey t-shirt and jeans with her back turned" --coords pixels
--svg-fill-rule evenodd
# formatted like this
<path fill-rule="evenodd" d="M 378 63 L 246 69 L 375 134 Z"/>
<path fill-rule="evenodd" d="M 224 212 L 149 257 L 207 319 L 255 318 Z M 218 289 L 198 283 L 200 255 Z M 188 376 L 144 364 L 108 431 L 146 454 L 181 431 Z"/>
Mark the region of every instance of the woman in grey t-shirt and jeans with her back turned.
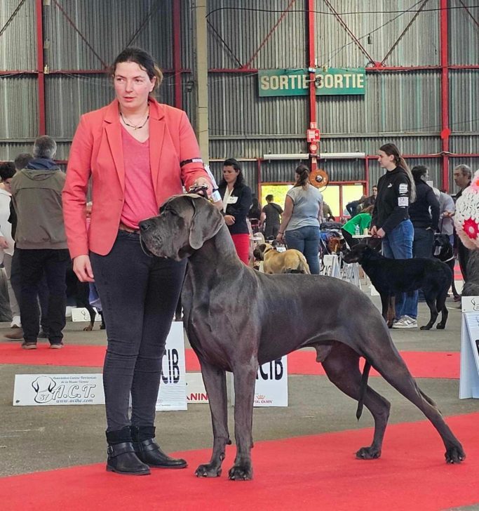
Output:
<path fill-rule="evenodd" d="M 309 184 L 309 168 L 299 165 L 296 183 L 288 191 L 276 240 L 304 254 L 312 274 L 319 273 L 319 225 L 323 220 L 323 195 Z"/>

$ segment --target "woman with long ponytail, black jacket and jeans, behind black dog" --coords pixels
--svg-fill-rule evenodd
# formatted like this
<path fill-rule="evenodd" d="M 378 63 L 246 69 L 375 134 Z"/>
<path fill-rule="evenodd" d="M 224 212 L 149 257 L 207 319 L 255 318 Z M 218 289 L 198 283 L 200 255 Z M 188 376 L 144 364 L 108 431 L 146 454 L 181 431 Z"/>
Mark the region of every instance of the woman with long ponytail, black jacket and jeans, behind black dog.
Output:
<path fill-rule="evenodd" d="M 390 259 L 411 259 L 414 227 L 409 206 L 416 198 L 412 173 L 394 144 L 379 148 L 379 166 L 386 173 L 377 183 L 371 234 L 382 238 L 382 253 Z M 417 291 L 396 296 L 396 322 L 393 328 L 417 328 Z"/>

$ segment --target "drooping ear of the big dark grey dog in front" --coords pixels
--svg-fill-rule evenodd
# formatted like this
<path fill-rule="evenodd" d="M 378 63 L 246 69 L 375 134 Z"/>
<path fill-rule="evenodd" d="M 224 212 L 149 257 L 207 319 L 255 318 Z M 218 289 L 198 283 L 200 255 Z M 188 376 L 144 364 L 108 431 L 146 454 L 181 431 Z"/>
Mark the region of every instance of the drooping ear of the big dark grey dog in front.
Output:
<path fill-rule="evenodd" d="M 183 197 L 190 201 L 194 209 L 189 226 L 189 246 L 197 250 L 217 234 L 224 225 L 224 218 L 220 211 L 203 197 L 196 194 L 185 194 Z"/>

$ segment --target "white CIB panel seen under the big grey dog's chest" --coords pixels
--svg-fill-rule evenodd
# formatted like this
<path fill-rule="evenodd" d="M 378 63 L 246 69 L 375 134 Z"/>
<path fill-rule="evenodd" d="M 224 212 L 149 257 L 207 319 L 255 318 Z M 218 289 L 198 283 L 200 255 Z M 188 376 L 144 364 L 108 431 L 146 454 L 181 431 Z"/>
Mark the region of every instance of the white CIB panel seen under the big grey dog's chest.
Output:
<path fill-rule="evenodd" d="M 231 403 L 234 404 L 234 378 L 231 374 Z M 288 406 L 288 358 L 259 366 L 253 406 Z"/>

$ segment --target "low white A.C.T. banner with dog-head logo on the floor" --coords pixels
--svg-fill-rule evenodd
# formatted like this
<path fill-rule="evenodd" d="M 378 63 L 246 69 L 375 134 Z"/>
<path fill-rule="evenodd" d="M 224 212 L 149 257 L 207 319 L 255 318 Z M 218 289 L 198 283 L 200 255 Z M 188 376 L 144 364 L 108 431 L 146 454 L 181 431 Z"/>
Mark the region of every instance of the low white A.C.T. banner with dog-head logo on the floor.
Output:
<path fill-rule="evenodd" d="M 104 404 L 102 374 L 15 374 L 13 406 Z"/>

